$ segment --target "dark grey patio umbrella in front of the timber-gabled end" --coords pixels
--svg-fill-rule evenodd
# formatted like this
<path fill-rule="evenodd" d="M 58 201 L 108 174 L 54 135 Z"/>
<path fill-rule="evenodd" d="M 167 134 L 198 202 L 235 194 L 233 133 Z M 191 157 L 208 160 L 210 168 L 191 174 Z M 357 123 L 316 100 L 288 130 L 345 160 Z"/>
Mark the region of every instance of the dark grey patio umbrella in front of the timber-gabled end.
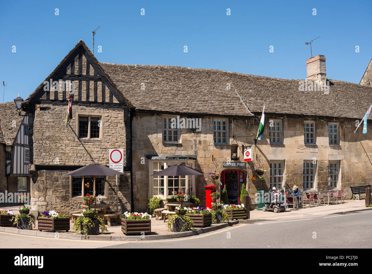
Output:
<path fill-rule="evenodd" d="M 124 173 L 116 171 L 115 169 L 108 168 L 107 166 L 100 165 L 99 163 L 91 163 L 90 165 L 83 166 L 67 174 L 70 176 L 94 176 L 93 189 L 96 190 L 96 176 L 109 176 L 109 175 L 124 175 Z M 118 185 L 118 177 L 116 176 L 116 186 Z M 116 189 L 116 208 L 118 209 L 118 190 Z M 94 193 L 95 194 L 95 193 Z"/>

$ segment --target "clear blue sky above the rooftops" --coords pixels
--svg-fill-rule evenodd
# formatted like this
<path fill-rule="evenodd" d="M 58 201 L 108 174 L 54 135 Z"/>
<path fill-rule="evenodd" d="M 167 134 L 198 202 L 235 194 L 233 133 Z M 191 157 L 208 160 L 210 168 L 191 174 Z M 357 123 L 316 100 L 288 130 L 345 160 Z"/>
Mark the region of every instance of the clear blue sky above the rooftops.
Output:
<path fill-rule="evenodd" d="M 18 93 L 26 99 L 80 39 L 92 48 L 90 32 L 97 26 L 94 55 L 99 61 L 291 79 L 306 77 L 305 61 L 311 56 L 305 42 L 321 36 L 312 52 L 325 55 L 327 78 L 359 83 L 372 57 L 372 1 L 254 2 L 2 1 L 5 101 Z"/>

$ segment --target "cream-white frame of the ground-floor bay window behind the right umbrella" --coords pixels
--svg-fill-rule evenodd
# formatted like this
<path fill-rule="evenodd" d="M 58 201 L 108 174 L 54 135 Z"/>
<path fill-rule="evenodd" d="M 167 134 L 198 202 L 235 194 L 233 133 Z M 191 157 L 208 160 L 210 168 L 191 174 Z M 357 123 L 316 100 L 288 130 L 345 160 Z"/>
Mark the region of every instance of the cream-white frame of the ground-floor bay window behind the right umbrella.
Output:
<path fill-rule="evenodd" d="M 153 198 L 153 197 L 160 197 L 162 199 L 173 197 L 175 195 L 168 195 L 168 176 L 164 176 L 164 195 L 154 194 L 154 186 L 153 186 L 153 180 L 158 179 L 158 176 L 151 176 L 154 173 L 154 163 L 162 163 L 164 164 L 164 169 L 168 168 L 169 166 L 177 163 L 177 162 L 185 162 L 186 166 L 190 168 L 195 168 L 195 160 L 149 160 L 149 181 L 148 181 L 148 198 Z M 192 194 L 195 194 L 195 175 L 186 175 L 186 194 L 187 197 L 191 197 Z M 177 180 L 176 180 L 177 181 Z M 158 187 L 157 187 L 158 188 Z M 190 189 L 192 188 L 192 192 L 190 193 Z"/>

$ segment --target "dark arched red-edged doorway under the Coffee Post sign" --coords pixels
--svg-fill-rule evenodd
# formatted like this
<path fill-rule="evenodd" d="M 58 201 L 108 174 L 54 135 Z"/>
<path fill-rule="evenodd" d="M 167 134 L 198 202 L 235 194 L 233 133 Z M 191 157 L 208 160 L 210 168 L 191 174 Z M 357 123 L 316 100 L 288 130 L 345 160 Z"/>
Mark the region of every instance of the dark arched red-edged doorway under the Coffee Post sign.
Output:
<path fill-rule="evenodd" d="M 227 195 L 230 204 L 240 204 L 241 184 L 245 183 L 243 171 L 228 169 L 222 171 L 222 189 L 226 185 Z"/>

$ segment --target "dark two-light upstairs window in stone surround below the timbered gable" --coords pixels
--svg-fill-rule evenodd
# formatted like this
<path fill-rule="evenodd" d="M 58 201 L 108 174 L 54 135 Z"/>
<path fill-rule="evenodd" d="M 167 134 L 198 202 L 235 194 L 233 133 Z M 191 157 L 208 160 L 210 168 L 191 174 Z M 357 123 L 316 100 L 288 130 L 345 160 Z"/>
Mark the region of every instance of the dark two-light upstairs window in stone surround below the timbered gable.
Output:
<path fill-rule="evenodd" d="M 102 136 L 102 116 L 78 115 L 79 138 L 99 139 Z"/>

